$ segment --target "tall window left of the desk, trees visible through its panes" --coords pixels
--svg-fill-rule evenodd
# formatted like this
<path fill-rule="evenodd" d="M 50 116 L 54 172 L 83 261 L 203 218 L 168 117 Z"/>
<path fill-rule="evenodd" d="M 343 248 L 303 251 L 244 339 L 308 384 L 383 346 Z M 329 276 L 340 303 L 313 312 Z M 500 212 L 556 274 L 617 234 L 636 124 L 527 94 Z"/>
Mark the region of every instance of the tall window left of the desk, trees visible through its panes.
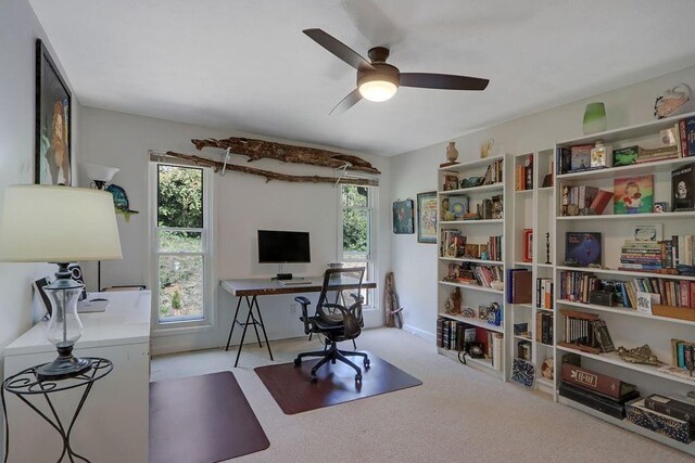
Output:
<path fill-rule="evenodd" d="M 210 173 L 199 167 L 160 163 L 155 166 L 156 321 L 205 321 L 210 301 Z"/>

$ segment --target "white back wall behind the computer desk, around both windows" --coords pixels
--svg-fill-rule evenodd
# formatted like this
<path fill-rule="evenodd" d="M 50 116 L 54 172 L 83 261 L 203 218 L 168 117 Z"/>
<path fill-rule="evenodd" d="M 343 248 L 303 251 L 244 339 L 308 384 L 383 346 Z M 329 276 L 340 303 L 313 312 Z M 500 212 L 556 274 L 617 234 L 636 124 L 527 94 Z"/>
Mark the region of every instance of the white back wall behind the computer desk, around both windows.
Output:
<path fill-rule="evenodd" d="M 118 167 L 113 183 L 123 187 L 130 208 L 140 210 L 126 222 L 118 216 L 123 260 L 102 262 L 102 286 L 144 283 L 148 281 L 150 256 L 148 243 L 148 150 L 197 153 L 193 138 L 250 137 L 233 130 L 191 126 L 124 113 L 83 107 L 80 146 L 86 163 Z M 267 139 L 267 138 L 266 138 Z M 288 143 L 292 143 L 291 141 Z M 204 155 L 220 157 L 220 150 L 205 150 Z M 359 155 L 359 153 L 356 153 Z M 235 163 L 248 165 L 245 157 L 232 156 Z M 390 262 L 390 176 L 389 159 L 363 156 L 383 173 L 380 181 L 380 217 L 378 218 L 377 255 L 381 262 L 378 282 L 383 281 Z M 275 160 L 253 163 L 254 167 L 294 175 L 328 175 L 325 168 L 283 164 Z M 193 334 L 156 336 L 153 352 L 178 351 L 222 346 L 227 340 L 236 299 L 218 291 L 224 279 L 270 276 L 277 266 L 256 262 L 256 230 L 306 230 L 311 233 L 312 263 L 287 267 L 295 274 L 321 274 L 326 263 L 337 258 L 337 190 L 331 184 L 265 182 L 264 178 L 237 172 L 214 177 L 215 207 L 215 294 L 218 310 L 215 329 Z M 96 288 L 96 266 L 85 265 L 87 285 Z M 380 301 L 381 298 L 379 297 Z M 270 339 L 303 335 L 298 314 L 290 313 L 291 296 L 263 297 L 263 317 Z M 367 319 L 368 325 L 382 324 L 381 311 Z M 239 339 L 240 330 L 235 334 Z"/>

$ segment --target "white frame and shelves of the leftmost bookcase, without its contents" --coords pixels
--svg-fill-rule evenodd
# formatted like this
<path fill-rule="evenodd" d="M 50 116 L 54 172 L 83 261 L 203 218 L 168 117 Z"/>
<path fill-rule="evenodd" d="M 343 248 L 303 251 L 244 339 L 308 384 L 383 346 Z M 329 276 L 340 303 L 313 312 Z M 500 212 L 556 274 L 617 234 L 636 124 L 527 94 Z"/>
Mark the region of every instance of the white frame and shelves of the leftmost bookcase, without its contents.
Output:
<path fill-rule="evenodd" d="M 492 196 L 502 196 L 504 201 L 504 210 L 507 209 L 509 204 L 509 192 L 506 188 L 506 163 L 504 163 L 505 156 L 493 156 L 482 159 L 475 159 L 470 162 L 464 162 L 457 165 L 440 168 L 438 171 L 438 318 L 444 318 L 453 322 L 463 322 L 477 329 L 482 329 L 485 332 L 492 333 L 492 336 L 502 334 L 504 339 L 507 339 L 510 332 L 508 332 L 508 323 L 506 323 L 507 314 L 504 312 L 504 290 L 495 290 L 488 287 L 486 285 L 460 283 L 453 281 L 445 281 L 448 275 L 450 266 L 464 265 L 464 266 L 488 266 L 497 269 L 504 274 L 506 268 L 506 253 L 503 249 L 502 259 L 492 260 L 491 249 L 489 249 L 489 258 L 483 259 L 481 256 L 466 256 L 466 257 L 453 257 L 442 255 L 442 230 L 459 230 L 463 235 L 466 236 L 466 244 L 488 244 L 490 236 L 504 235 L 506 219 L 504 218 L 486 218 L 486 219 L 464 219 L 464 220 L 443 220 L 442 217 L 442 200 L 451 197 L 453 195 L 466 195 L 469 200 L 469 211 L 476 211 L 477 206 L 481 204 L 483 200 L 491 200 Z M 470 177 L 483 177 L 488 166 L 493 165 L 496 162 L 503 163 L 503 175 L 498 181 L 492 184 L 482 184 L 472 188 L 456 188 L 453 190 L 443 190 L 443 177 L 444 175 L 456 175 L 459 180 Z M 502 240 L 502 247 L 504 248 L 504 240 Z M 460 290 L 462 294 L 462 307 L 469 307 L 473 310 L 476 317 L 464 317 L 463 314 L 453 314 L 446 312 L 446 301 L 452 297 L 452 293 L 456 290 Z M 497 326 L 489 323 L 486 320 L 482 320 L 478 317 L 479 306 L 489 306 L 491 303 L 497 303 L 503 310 L 502 318 L 503 324 Z M 503 339 L 503 340 L 504 340 Z M 490 358 L 485 359 L 472 359 L 466 356 L 466 365 L 472 366 L 479 370 L 483 370 L 486 373 L 492 374 L 495 377 L 504 380 L 506 377 L 506 352 L 504 348 L 501 349 L 501 358 L 494 361 Z M 441 355 L 456 359 L 458 361 L 458 352 L 455 349 L 448 350 L 438 346 L 438 351 Z"/>

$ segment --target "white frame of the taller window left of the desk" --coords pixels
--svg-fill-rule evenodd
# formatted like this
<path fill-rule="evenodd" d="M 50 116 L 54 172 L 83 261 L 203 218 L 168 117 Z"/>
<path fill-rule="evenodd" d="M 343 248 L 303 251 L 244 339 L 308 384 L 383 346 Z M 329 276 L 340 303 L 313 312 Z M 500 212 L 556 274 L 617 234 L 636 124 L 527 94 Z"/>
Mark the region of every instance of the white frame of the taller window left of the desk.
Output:
<path fill-rule="evenodd" d="M 159 252 L 157 242 L 157 191 L 159 191 L 159 166 L 168 165 L 185 168 L 201 169 L 203 172 L 203 228 L 202 229 L 178 229 L 166 228 L 172 231 L 200 231 L 202 242 L 202 253 L 172 253 Z M 213 171 L 208 167 L 193 166 L 185 163 L 168 160 L 150 160 L 148 168 L 148 190 L 149 190 L 149 210 L 148 210 L 148 231 L 150 242 L 150 258 L 148 259 L 150 269 L 150 287 L 152 288 L 152 313 L 151 313 L 151 331 L 154 335 L 176 335 L 187 334 L 198 331 L 207 331 L 214 329 L 215 324 L 215 298 L 213 292 L 214 266 L 214 236 L 213 236 Z M 160 321 L 160 282 L 159 282 L 159 256 L 162 255 L 202 255 L 203 256 L 203 317 L 199 320 L 170 320 Z"/>

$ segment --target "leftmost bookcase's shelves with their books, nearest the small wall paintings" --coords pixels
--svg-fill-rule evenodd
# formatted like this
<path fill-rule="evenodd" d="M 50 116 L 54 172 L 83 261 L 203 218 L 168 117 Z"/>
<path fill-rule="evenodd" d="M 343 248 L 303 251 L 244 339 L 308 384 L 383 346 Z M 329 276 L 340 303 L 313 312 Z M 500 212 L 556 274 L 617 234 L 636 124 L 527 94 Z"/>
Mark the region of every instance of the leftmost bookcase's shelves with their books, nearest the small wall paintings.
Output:
<path fill-rule="evenodd" d="M 504 307 L 504 288 L 495 290 L 489 287 L 490 282 L 504 275 L 506 268 L 505 243 L 501 236 L 505 235 L 506 219 L 504 214 L 509 203 L 509 191 L 504 179 L 508 178 L 505 172 L 505 156 L 493 156 L 482 159 L 472 159 L 453 166 L 439 169 L 438 188 L 438 248 L 439 255 L 456 255 L 458 257 L 438 257 L 438 348 L 440 353 L 452 357 L 447 346 L 456 345 L 459 336 L 470 335 L 466 333 L 466 327 L 476 329 L 476 340 L 483 344 L 485 359 L 470 359 L 466 357 L 467 365 L 490 371 L 497 377 L 504 377 L 505 357 L 504 343 L 507 339 L 506 323 L 497 326 L 488 323 L 486 317 L 478 318 L 482 308 L 500 310 L 501 319 L 506 320 Z M 454 178 L 455 176 L 455 178 Z M 462 180 L 482 177 L 485 183 L 480 187 L 466 189 L 446 190 L 445 185 L 453 185 L 455 180 L 458 184 Z M 468 207 L 466 213 L 478 213 L 481 219 L 478 220 L 443 220 L 444 211 L 455 211 L 457 217 L 462 217 L 462 207 L 452 210 L 444 209 L 455 204 L 454 195 L 465 195 L 468 202 L 458 201 L 456 204 L 465 204 Z M 448 200 L 448 201 L 446 201 Z M 498 206 L 502 205 L 502 209 Z M 451 215 L 447 215 L 452 218 Z M 485 246 L 485 248 L 482 248 Z M 491 260 L 481 259 L 482 252 L 488 253 Z M 464 257 L 470 256 L 470 257 Z M 451 280 L 451 281 L 445 281 Z M 459 283 L 458 280 L 470 281 L 470 283 Z M 500 279 L 502 280 L 502 279 Z M 475 284 L 479 283 L 479 284 Z M 494 303 L 494 304 L 493 304 Z M 453 316 L 446 313 L 450 307 L 470 307 L 476 312 L 476 318 Z M 500 338 L 500 334 L 503 335 Z M 448 336 L 448 337 L 447 337 Z M 494 348 L 493 348 L 494 346 Z M 493 357 L 495 360 L 493 366 Z M 453 352 L 456 357 L 456 352 Z"/>

